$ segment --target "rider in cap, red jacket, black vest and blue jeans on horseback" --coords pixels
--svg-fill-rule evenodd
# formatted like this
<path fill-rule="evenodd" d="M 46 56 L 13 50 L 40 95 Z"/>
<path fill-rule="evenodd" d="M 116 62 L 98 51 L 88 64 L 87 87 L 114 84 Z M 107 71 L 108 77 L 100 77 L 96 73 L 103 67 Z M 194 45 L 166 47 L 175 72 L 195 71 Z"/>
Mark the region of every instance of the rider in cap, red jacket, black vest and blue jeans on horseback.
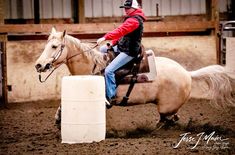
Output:
<path fill-rule="evenodd" d="M 120 6 L 120 8 L 124 8 L 126 13 L 123 23 L 118 28 L 97 40 L 98 45 L 105 40 L 112 40 L 110 44 L 114 51 L 120 53 L 106 67 L 104 72 L 106 97 L 108 101 L 111 101 L 116 95 L 114 72 L 139 54 L 143 34 L 143 22 L 146 20 L 146 17 L 142 9 L 139 8 L 139 4 L 136 0 L 126 0 L 124 5 Z M 107 45 L 103 45 L 100 50 L 101 52 L 107 52 L 107 49 L 109 48 L 110 47 Z"/>

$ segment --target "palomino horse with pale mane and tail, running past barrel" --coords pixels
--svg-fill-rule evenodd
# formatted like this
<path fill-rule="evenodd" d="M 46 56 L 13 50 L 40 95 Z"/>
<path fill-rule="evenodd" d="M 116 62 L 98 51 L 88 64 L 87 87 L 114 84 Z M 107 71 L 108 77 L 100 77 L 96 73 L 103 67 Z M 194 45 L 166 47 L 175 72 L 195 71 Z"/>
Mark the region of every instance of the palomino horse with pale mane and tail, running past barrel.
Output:
<path fill-rule="evenodd" d="M 94 45 L 93 45 L 94 46 Z M 130 95 L 128 105 L 156 103 L 161 116 L 172 116 L 189 99 L 192 80 L 205 80 L 209 86 L 211 98 L 222 107 L 234 106 L 232 87 L 224 67 L 213 65 L 197 71 L 186 71 L 180 64 L 164 57 L 155 57 L 157 77 L 153 82 L 137 83 Z M 106 67 L 103 54 L 87 43 L 81 43 L 66 32 L 57 32 L 52 28 L 42 55 L 36 61 L 38 72 L 46 72 L 62 63 L 68 66 L 72 75 L 93 74 Z M 127 91 L 127 85 L 118 86 L 117 101 L 121 101 Z M 218 102 L 217 102 L 218 101 Z M 221 102 L 226 101 L 226 102 Z M 60 107 L 56 119 L 60 115 Z"/>

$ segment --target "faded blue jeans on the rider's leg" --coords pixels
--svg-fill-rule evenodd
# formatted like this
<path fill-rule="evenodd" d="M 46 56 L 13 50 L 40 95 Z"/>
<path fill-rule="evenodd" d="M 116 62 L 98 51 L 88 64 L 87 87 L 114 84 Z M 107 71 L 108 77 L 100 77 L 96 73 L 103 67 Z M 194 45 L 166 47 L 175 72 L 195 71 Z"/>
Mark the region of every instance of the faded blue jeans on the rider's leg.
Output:
<path fill-rule="evenodd" d="M 103 49 L 102 49 L 103 48 Z M 117 52 L 117 46 L 114 46 L 114 51 Z M 101 52 L 106 51 L 105 47 L 102 46 L 100 48 Z M 118 51 L 119 52 L 119 51 Z M 115 71 L 122 67 L 123 65 L 127 64 L 133 59 L 133 57 L 128 56 L 126 53 L 120 52 L 120 54 L 105 68 L 104 77 L 105 77 L 105 85 L 106 85 L 106 96 L 108 99 L 111 99 L 116 95 L 116 80 L 115 80 Z"/>

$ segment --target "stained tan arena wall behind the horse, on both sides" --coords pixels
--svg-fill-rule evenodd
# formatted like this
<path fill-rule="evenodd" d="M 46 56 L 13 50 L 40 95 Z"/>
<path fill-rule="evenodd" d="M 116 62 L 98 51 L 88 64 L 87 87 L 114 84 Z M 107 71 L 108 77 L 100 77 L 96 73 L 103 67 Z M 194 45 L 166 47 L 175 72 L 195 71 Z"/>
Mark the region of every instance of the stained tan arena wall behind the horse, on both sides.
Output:
<path fill-rule="evenodd" d="M 42 53 L 45 40 L 9 41 L 7 43 L 7 78 L 9 102 L 55 100 L 60 98 L 61 78 L 69 75 L 65 65 L 57 69 L 45 82 L 40 83 L 34 68 Z M 156 56 L 169 57 L 187 70 L 196 70 L 216 64 L 216 45 L 213 36 L 151 37 L 144 38 L 146 49 L 154 50 Z M 45 77 L 47 74 L 42 74 Z M 197 85 L 197 84 L 196 84 Z M 200 97 L 195 84 L 192 97 Z"/>

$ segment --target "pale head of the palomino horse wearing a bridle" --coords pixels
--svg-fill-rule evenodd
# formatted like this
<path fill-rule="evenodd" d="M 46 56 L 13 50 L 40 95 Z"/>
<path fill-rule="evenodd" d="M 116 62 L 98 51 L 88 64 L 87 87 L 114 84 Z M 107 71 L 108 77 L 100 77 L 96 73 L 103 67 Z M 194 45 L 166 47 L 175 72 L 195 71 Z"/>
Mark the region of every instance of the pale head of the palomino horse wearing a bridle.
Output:
<path fill-rule="evenodd" d="M 66 59 L 65 35 L 66 31 L 56 32 L 56 29 L 52 28 L 44 51 L 36 61 L 37 72 L 46 72 Z"/>

